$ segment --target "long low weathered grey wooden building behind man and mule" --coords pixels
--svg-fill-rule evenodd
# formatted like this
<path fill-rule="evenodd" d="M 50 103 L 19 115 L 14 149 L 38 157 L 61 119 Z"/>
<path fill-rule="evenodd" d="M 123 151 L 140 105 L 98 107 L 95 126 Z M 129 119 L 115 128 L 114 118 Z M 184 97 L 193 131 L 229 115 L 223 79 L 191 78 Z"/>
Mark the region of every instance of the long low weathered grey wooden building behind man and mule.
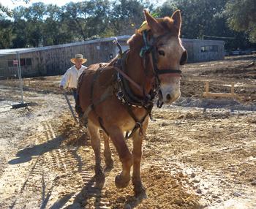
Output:
<path fill-rule="evenodd" d="M 128 49 L 130 36 L 116 37 L 123 50 Z M 86 66 L 107 62 L 116 56 L 118 48 L 114 37 L 74 42 L 48 47 L 0 50 L 0 78 L 17 74 L 15 60 L 20 57 L 22 77 L 63 75 L 72 66 L 70 58 L 81 53 L 87 58 Z M 189 53 L 189 62 L 212 61 L 224 58 L 224 42 L 200 39 L 182 39 Z"/>

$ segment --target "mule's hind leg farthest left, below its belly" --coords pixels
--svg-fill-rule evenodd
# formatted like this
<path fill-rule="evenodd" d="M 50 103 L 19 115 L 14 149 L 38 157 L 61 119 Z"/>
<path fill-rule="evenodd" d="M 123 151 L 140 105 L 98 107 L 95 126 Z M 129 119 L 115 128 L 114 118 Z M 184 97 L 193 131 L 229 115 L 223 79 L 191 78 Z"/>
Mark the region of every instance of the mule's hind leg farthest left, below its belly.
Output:
<path fill-rule="evenodd" d="M 102 172 L 102 165 L 101 165 L 101 156 L 100 156 L 100 137 L 99 137 L 99 128 L 94 126 L 94 124 L 88 123 L 88 132 L 91 138 L 91 147 L 94 150 L 95 155 L 95 180 L 96 186 L 98 188 L 102 188 L 105 183 L 105 175 Z"/>

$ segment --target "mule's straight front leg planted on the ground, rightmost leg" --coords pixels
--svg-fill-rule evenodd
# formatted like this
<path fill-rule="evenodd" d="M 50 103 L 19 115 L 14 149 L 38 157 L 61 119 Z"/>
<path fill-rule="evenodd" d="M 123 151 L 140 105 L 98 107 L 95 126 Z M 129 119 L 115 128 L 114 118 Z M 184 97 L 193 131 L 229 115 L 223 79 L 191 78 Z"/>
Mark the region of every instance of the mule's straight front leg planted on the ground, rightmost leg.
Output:
<path fill-rule="evenodd" d="M 146 198 L 146 189 L 143 186 L 143 183 L 140 178 L 140 163 L 142 156 L 142 142 L 143 137 L 146 134 L 146 129 L 148 128 L 148 118 L 143 123 L 143 134 L 140 135 L 140 129 L 135 132 L 132 137 L 133 140 L 133 172 L 132 172 L 132 183 L 134 185 L 135 196 L 141 199 Z"/>

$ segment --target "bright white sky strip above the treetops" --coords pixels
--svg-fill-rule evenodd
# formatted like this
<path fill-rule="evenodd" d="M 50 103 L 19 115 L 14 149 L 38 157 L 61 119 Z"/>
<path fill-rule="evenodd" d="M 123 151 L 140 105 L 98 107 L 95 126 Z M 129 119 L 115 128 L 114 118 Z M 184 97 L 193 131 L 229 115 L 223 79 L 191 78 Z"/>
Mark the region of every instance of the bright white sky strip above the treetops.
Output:
<path fill-rule="evenodd" d="M 57 4 L 59 7 L 69 3 L 70 1 L 73 2 L 78 2 L 78 1 L 84 1 L 84 0 L 41 0 L 44 4 Z M 153 0 L 159 5 L 161 5 L 165 0 Z M 29 7 L 31 4 L 39 2 L 39 0 L 30 0 L 29 4 L 26 4 L 24 1 L 20 0 L 0 0 L 1 4 L 4 5 L 5 7 L 9 7 L 10 9 L 13 9 L 18 6 L 23 6 L 23 7 Z"/>

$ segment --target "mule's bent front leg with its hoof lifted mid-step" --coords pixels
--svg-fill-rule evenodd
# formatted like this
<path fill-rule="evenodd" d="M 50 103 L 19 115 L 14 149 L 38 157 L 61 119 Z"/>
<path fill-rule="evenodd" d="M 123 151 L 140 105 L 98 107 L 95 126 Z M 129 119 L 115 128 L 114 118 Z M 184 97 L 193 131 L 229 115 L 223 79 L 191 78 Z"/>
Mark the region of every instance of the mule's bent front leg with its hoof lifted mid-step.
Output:
<path fill-rule="evenodd" d="M 124 188 L 128 186 L 129 180 L 131 179 L 130 170 L 132 166 L 132 154 L 124 140 L 123 132 L 121 132 L 118 127 L 111 127 L 109 129 L 109 134 L 122 164 L 122 171 L 115 179 L 116 187 Z"/>

